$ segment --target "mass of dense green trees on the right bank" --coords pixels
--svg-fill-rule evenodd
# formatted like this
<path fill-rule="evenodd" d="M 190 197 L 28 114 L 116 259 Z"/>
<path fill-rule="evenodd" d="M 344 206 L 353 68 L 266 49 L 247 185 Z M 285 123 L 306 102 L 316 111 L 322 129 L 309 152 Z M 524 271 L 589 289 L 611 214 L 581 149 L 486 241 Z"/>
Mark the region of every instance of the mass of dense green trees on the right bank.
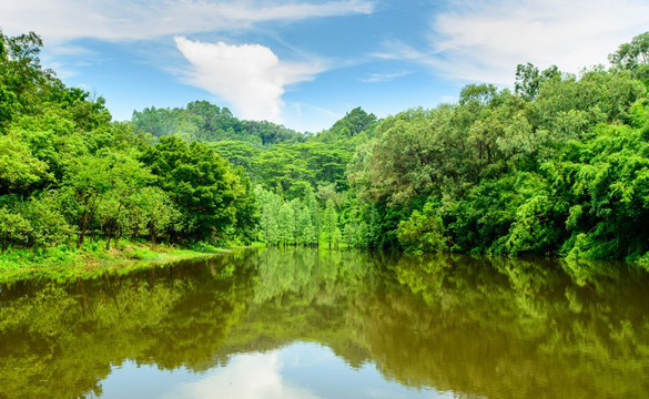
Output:
<path fill-rule="evenodd" d="M 371 246 L 396 232 L 402 248 L 435 252 L 418 234 L 430 229 L 444 232 L 430 241 L 448 236 L 462 252 L 643 256 L 649 116 L 637 68 L 647 63 L 646 35 L 611 55 L 609 71 L 577 78 L 519 65 L 517 95 L 470 84 L 456 105 L 381 121 L 348 166 L 357 201 L 372 208 L 363 215 Z M 437 204 L 435 217 L 423 203 Z"/>

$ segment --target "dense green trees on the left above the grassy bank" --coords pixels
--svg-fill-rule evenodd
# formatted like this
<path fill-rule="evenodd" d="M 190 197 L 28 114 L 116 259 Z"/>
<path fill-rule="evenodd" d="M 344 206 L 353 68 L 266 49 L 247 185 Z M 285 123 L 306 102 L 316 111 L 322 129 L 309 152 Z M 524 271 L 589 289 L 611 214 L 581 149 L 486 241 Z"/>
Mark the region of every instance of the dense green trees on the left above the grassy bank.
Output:
<path fill-rule="evenodd" d="M 204 144 L 178 136 L 152 144 L 136 123 L 111 122 L 102 98 L 67 88 L 40 66 L 34 33 L 0 39 L 3 250 L 81 247 L 89 235 L 107 246 L 121 237 L 254 238 L 256 204 L 244 173 Z M 232 119 L 211 104 L 190 105 L 189 116 L 203 124 Z"/>

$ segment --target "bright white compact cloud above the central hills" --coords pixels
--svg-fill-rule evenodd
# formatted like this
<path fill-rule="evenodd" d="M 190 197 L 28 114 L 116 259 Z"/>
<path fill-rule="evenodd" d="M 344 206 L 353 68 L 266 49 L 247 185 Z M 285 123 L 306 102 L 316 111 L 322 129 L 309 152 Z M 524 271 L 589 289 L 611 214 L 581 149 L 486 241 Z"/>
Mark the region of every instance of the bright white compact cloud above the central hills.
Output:
<path fill-rule="evenodd" d="M 175 42 L 192 65 L 187 83 L 229 101 L 244 119 L 281 123 L 284 88 L 311 80 L 325 69 L 317 61 L 281 61 L 260 44 L 203 43 L 183 37 Z"/>

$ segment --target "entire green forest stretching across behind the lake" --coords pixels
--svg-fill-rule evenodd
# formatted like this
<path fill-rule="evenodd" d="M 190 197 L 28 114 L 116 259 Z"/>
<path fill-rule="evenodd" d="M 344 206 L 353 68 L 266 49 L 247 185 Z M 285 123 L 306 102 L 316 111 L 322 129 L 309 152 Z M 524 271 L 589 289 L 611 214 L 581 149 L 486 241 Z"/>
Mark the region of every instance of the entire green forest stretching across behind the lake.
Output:
<path fill-rule="evenodd" d="M 649 32 L 579 75 L 520 64 L 514 91 L 318 133 L 206 101 L 115 122 L 41 48 L 0 31 L 3 256 L 126 239 L 649 262 Z"/>

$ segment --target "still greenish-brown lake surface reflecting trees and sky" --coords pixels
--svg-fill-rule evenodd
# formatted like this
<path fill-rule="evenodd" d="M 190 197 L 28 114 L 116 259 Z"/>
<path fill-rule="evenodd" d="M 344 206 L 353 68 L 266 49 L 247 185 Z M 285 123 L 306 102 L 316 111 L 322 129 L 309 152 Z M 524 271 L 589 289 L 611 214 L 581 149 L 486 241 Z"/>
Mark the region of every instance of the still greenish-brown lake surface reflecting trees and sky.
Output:
<path fill-rule="evenodd" d="M 0 398 L 649 398 L 625 264 L 268 248 L 0 288 Z"/>

